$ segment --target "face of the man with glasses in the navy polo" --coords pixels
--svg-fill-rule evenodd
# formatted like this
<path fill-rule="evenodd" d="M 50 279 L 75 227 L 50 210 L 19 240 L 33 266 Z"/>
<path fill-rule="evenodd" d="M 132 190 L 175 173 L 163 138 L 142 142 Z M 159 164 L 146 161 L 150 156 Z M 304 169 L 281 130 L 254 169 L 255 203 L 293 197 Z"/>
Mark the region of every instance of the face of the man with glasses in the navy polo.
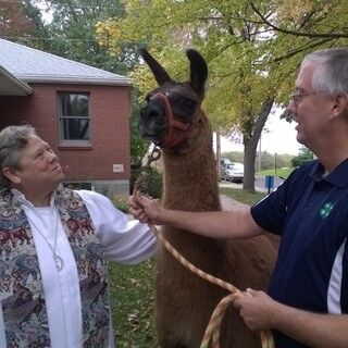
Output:
<path fill-rule="evenodd" d="M 288 109 L 297 122 L 297 141 L 313 149 L 318 139 L 327 137 L 333 99 L 313 89 L 314 65 L 304 64 L 296 80 L 297 99 L 293 99 Z M 314 146 L 315 148 L 315 146 Z"/>

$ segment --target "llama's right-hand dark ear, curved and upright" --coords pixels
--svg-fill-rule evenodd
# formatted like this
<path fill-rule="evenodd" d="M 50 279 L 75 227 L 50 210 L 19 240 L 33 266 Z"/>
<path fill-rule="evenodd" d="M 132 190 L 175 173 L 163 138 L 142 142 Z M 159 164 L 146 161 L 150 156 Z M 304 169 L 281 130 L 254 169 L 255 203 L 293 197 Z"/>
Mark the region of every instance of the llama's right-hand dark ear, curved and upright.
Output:
<path fill-rule="evenodd" d="M 190 86 L 199 94 L 204 95 L 204 85 L 208 77 L 208 66 L 203 57 L 196 50 L 189 49 L 186 55 L 190 62 Z"/>

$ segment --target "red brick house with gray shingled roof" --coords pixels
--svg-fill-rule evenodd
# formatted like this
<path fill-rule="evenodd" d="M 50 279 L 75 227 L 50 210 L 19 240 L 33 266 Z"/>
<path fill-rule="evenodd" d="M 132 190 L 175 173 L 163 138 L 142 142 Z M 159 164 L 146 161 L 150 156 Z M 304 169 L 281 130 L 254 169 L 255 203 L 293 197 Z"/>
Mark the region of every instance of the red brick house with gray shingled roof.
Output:
<path fill-rule="evenodd" d="M 0 129 L 32 124 L 66 182 L 128 194 L 130 80 L 0 39 Z"/>

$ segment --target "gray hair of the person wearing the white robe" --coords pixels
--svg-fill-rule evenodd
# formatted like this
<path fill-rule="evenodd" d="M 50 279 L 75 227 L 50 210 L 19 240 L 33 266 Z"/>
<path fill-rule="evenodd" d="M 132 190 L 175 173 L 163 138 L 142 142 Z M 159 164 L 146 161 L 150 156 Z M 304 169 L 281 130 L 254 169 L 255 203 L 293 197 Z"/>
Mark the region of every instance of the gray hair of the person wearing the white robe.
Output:
<path fill-rule="evenodd" d="M 37 134 L 30 125 L 8 126 L 0 132 L 0 190 L 9 188 L 10 185 L 10 181 L 3 175 L 2 170 L 7 166 L 20 167 L 21 151 L 33 136 L 37 136 Z"/>

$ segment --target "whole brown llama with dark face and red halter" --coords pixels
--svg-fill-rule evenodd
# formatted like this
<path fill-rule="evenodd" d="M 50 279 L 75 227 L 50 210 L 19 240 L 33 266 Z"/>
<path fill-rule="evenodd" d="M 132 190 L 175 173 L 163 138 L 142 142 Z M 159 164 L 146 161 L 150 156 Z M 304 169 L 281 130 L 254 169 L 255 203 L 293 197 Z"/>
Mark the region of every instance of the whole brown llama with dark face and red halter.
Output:
<path fill-rule="evenodd" d="M 140 111 L 141 135 L 161 147 L 163 206 L 186 211 L 221 210 L 210 121 L 200 109 L 208 67 L 188 50 L 190 80 L 174 82 L 145 49 L 141 55 L 159 87 Z M 191 263 L 239 289 L 265 289 L 276 248 L 268 237 L 225 241 L 163 226 L 164 237 Z M 198 348 L 217 302 L 227 291 L 185 269 L 160 246 L 157 273 L 157 328 L 163 348 Z M 261 347 L 238 312 L 229 308 L 221 328 L 221 347 Z"/>

